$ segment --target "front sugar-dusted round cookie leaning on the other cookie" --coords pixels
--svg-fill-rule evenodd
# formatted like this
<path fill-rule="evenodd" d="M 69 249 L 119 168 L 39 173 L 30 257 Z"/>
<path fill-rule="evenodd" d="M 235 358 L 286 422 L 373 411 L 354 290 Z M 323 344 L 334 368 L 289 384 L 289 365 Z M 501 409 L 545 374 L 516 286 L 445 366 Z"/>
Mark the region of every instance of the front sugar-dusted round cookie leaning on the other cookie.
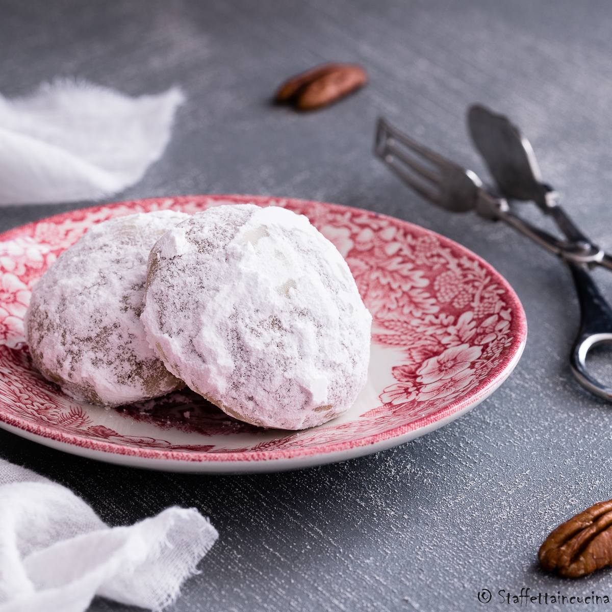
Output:
<path fill-rule="evenodd" d="M 141 319 L 168 370 L 255 425 L 324 423 L 367 378 L 371 315 L 348 265 L 280 207 L 213 207 L 162 236 Z"/>

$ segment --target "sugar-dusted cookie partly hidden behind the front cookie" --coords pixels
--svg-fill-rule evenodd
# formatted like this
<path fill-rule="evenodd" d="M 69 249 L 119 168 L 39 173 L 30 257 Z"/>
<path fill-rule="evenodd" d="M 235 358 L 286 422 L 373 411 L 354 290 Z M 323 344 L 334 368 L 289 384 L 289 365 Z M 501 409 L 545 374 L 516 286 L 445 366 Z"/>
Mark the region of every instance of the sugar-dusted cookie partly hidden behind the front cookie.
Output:
<path fill-rule="evenodd" d="M 107 406 L 180 389 L 149 346 L 140 315 L 147 258 L 182 212 L 94 225 L 32 289 L 26 315 L 34 365 L 70 397 Z"/>

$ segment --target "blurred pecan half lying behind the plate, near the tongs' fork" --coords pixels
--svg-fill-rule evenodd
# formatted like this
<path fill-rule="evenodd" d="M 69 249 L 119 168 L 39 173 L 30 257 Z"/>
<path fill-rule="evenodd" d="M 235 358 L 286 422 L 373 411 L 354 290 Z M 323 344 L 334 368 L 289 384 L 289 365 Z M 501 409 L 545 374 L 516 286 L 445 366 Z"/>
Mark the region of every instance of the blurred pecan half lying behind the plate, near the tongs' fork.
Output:
<path fill-rule="evenodd" d="M 367 72 L 357 64 L 321 64 L 285 81 L 274 101 L 293 104 L 303 111 L 315 110 L 337 102 L 367 82 Z"/>

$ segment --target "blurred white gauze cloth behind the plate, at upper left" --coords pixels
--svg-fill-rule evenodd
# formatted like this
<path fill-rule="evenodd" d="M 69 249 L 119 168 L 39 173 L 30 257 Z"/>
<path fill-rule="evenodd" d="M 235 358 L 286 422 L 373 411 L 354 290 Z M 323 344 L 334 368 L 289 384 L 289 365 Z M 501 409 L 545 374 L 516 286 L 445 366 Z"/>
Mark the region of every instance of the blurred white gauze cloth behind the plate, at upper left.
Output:
<path fill-rule="evenodd" d="M 97 200 L 140 181 L 170 140 L 181 90 L 132 98 L 56 80 L 0 95 L 0 204 Z"/>

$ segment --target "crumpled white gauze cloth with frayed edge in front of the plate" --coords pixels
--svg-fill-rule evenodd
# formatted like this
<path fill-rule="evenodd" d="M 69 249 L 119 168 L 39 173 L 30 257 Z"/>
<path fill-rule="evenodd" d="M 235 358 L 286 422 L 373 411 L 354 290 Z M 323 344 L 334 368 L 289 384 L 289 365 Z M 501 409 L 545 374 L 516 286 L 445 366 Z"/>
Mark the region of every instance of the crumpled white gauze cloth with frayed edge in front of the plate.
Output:
<path fill-rule="evenodd" d="M 81 612 L 94 595 L 161 610 L 217 537 L 177 507 L 110 528 L 72 491 L 0 460 L 0 612 Z"/>

